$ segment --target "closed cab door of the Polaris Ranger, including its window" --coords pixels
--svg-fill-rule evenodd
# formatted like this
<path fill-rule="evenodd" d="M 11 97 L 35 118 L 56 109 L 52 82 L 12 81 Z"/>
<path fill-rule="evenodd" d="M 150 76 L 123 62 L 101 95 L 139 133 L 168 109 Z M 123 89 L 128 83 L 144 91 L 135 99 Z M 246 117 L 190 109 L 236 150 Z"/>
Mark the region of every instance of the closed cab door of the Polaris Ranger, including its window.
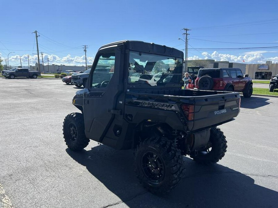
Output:
<path fill-rule="evenodd" d="M 116 47 L 101 49 L 86 83 L 83 99 L 85 134 L 95 141 L 102 142 L 113 120 L 122 117 L 123 109 L 117 105 L 121 91 L 120 55 Z"/>

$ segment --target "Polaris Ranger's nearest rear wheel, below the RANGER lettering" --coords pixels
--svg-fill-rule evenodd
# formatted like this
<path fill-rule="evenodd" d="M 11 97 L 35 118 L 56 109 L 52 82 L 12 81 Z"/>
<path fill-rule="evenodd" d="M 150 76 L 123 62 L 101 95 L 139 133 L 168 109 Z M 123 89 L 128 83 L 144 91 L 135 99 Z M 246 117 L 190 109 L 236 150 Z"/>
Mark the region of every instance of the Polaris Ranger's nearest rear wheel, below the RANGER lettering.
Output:
<path fill-rule="evenodd" d="M 155 194 L 171 191 L 185 173 L 181 151 L 165 137 L 142 141 L 134 153 L 134 166 L 139 181 Z"/>

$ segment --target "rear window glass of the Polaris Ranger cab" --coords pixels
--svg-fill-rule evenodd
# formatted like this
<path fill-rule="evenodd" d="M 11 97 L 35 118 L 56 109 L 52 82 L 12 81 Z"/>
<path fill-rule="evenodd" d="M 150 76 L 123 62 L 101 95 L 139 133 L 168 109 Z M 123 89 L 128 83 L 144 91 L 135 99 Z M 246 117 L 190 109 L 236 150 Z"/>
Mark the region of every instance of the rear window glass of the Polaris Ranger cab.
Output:
<path fill-rule="evenodd" d="M 180 84 L 182 63 L 181 58 L 130 51 L 128 84 Z"/>

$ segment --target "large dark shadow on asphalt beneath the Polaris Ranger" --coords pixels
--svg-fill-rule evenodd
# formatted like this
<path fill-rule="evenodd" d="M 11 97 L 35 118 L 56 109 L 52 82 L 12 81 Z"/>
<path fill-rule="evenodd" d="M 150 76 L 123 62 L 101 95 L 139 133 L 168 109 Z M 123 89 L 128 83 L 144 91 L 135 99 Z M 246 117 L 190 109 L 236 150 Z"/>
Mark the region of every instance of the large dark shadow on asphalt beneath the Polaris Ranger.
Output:
<path fill-rule="evenodd" d="M 258 186 L 251 177 L 218 164 L 198 165 L 184 157 L 187 176 L 170 193 L 159 196 L 146 191 L 135 177 L 130 150 L 99 145 L 89 151 L 76 153 L 66 149 L 66 152 L 120 198 L 116 204 L 124 202 L 128 207 L 277 207 L 278 204 L 278 192 Z"/>

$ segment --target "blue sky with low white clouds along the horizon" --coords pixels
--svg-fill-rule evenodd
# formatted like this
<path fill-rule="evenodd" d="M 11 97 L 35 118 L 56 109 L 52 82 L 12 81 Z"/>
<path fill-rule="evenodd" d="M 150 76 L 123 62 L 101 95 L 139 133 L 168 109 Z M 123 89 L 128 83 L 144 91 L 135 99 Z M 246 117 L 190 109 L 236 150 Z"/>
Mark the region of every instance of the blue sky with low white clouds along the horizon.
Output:
<path fill-rule="evenodd" d="M 2 1 L 0 56 L 11 66 L 37 62 L 90 65 L 99 47 L 118 40 L 141 40 L 185 49 L 188 59 L 278 63 L 277 1 Z M 272 47 L 272 48 L 270 48 Z M 232 48 L 232 49 L 228 49 Z M 241 48 L 241 50 L 238 50 Z M 249 49 L 246 49 L 249 48 Z"/>

